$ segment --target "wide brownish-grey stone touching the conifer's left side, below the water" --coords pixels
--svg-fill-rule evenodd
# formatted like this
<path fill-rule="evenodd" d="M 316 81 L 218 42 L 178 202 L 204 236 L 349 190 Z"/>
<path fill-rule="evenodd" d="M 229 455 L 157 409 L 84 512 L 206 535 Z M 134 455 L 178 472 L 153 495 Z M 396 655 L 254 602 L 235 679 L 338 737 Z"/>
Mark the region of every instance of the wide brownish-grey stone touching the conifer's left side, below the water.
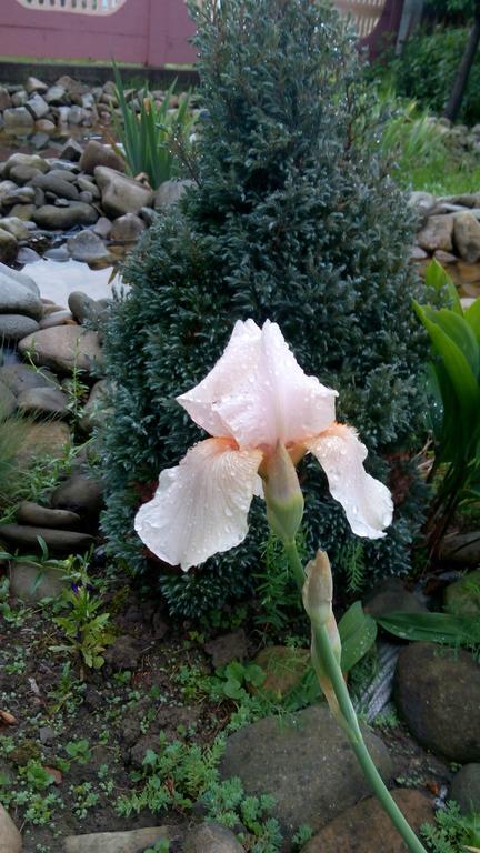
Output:
<path fill-rule="evenodd" d="M 31 351 L 36 364 L 60 373 L 70 373 L 73 368 L 91 373 L 102 363 L 98 332 L 78 325 L 40 329 L 19 342 L 19 351 Z"/>

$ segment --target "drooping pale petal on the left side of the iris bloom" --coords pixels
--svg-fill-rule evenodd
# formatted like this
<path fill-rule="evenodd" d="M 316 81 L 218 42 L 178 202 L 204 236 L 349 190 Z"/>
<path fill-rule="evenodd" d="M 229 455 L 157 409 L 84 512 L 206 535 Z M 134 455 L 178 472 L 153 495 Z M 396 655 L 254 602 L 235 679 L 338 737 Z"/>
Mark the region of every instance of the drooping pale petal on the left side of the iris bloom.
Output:
<path fill-rule="evenodd" d="M 134 529 L 157 556 L 187 571 L 240 544 L 262 454 L 207 439 L 177 468 L 160 474 L 157 492 L 137 513 Z"/>

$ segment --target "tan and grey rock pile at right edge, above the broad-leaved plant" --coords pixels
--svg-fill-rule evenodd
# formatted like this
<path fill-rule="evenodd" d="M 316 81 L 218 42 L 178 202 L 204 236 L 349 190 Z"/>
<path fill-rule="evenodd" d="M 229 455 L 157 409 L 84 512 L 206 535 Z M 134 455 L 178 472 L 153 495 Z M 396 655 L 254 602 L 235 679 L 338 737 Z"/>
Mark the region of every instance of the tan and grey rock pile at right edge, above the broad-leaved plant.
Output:
<path fill-rule="evenodd" d="M 457 284 L 480 282 L 480 192 L 412 192 L 410 204 L 419 217 L 413 260 L 426 265 L 436 258 Z"/>

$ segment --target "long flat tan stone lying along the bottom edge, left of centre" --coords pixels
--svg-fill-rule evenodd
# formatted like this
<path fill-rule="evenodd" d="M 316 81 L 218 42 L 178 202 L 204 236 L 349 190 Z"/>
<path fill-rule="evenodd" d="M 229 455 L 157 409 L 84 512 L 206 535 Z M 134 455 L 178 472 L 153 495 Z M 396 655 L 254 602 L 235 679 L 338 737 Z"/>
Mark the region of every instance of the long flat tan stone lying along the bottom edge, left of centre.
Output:
<path fill-rule="evenodd" d="M 68 835 L 64 853 L 143 853 L 162 839 L 179 837 L 178 827 L 146 826 L 130 832 L 96 832 L 89 835 Z"/>

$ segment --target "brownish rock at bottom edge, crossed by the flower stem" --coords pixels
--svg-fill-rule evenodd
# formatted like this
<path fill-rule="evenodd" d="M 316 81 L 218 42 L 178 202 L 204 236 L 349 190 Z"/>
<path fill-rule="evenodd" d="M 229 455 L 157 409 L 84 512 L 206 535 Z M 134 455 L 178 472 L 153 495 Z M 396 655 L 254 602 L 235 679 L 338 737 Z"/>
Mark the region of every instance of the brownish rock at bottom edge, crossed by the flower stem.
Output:
<path fill-rule="evenodd" d="M 393 800 L 414 832 L 432 822 L 432 803 L 426 794 L 410 789 L 392 792 Z M 302 849 L 302 853 L 408 853 L 408 847 L 392 826 L 374 796 L 348 809 Z"/>

